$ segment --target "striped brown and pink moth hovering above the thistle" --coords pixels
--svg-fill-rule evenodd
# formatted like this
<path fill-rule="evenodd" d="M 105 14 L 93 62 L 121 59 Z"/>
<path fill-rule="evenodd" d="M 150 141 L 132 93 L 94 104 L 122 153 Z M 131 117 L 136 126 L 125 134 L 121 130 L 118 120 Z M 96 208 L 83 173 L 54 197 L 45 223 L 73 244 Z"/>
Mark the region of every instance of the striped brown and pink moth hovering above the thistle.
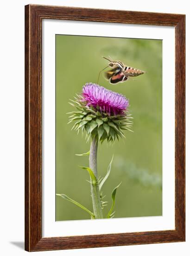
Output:
<path fill-rule="evenodd" d="M 102 56 L 103 57 L 103 56 Z M 117 84 L 122 83 L 130 79 L 131 77 L 138 76 L 140 74 L 144 74 L 145 71 L 142 71 L 137 68 L 133 67 L 127 67 L 123 62 L 121 61 L 113 61 L 110 57 L 110 59 L 103 57 L 107 61 L 109 61 L 107 67 L 111 67 L 112 69 L 104 72 L 105 78 L 111 83 L 111 84 Z M 104 69 L 106 69 L 105 67 Z M 101 71 L 103 71 L 102 69 Z M 101 73 L 101 72 L 100 72 Z M 99 77 L 100 77 L 99 73 Z M 98 80 L 99 80 L 98 77 Z"/>

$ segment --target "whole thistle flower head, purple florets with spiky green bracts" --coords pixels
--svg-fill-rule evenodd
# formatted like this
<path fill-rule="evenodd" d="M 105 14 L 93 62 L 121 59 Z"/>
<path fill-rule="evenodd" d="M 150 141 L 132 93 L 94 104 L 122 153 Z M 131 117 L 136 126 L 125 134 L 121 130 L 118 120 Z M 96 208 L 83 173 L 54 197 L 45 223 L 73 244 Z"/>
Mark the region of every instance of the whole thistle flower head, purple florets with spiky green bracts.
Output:
<path fill-rule="evenodd" d="M 86 83 L 82 94 L 71 101 L 78 111 L 70 112 L 70 122 L 76 121 L 75 130 L 85 130 L 87 140 L 90 137 L 98 141 L 112 141 L 123 137 L 122 130 L 130 130 L 133 125 L 128 113 L 129 101 L 122 95 L 93 83 Z M 125 137 L 125 136 L 124 136 Z"/>

